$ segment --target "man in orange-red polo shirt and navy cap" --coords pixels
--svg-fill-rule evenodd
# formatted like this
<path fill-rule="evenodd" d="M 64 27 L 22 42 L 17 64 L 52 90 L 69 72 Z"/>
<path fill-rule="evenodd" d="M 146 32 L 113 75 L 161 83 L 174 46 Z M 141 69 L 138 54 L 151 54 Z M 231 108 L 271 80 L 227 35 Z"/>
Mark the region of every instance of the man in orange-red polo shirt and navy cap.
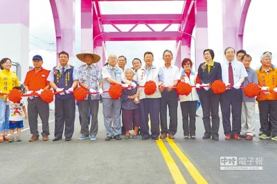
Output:
<path fill-rule="evenodd" d="M 26 74 L 24 81 L 26 93 L 30 94 L 33 91 L 41 93 L 41 90 L 49 89 L 49 82 L 46 80 L 49 71 L 42 68 L 42 56 L 35 55 L 33 57 L 34 68 Z M 37 130 L 37 116 L 42 120 L 42 140 L 49 140 L 49 104 L 44 102 L 39 96 L 30 96 L 28 98 L 28 121 L 30 126 L 30 134 L 32 137 L 29 142 L 34 142 L 39 139 L 39 131 Z"/>

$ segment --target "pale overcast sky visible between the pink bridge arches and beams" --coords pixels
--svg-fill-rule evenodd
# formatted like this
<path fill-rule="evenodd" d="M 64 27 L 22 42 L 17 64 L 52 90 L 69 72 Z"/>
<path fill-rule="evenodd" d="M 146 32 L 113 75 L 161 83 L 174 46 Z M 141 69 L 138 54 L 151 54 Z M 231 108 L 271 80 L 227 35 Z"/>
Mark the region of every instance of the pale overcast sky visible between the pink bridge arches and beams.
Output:
<path fill-rule="evenodd" d="M 172 3 L 175 2 L 175 3 Z M 155 1 L 140 2 L 136 6 L 128 2 L 102 2 L 102 13 L 139 13 L 143 10 L 144 13 L 172 13 L 179 11 L 179 3 L 181 1 L 158 2 L 161 8 L 155 7 Z M 215 51 L 215 61 L 221 62 L 224 59 L 224 48 L 222 48 L 222 5 L 221 0 L 208 1 L 208 48 Z M 44 8 L 35 8 L 37 6 Z M 80 26 L 80 0 L 76 0 L 76 24 Z M 136 7 L 136 8 L 134 8 Z M 247 15 L 247 21 L 244 28 L 244 50 L 247 50 L 252 56 L 251 67 L 256 68 L 260 64 L 260 55 L 270 50 L 273 57 L 277 54 L 277 26 L 274 17 L 277 17 L 277 1 L 275 0 L 253 0 Z M 159 10 L 158 10 L 159 9 Z M 137 12 L 136 12 L 137 11 Z M 39 18 L 37 15 L 40 15 Z M 157 29 L 159 26 L 157 26 Z M 123 27 L 122 27 L 123 28 Z M 106 27 L 107 31 L 111 27 Z M 138 29 L 143 29 L 139 28 Z M 75 38 L 75 53 L 80 53 L 80 35 L 78 29 Z M 48 0 L 30 0 L 30 57 L 34 54 L 44 56 L 44 67 L 51 68 L 55 65 L 55 29 L 53 25 L 53 17 L 51 15 L 51 7 Z M 193 42 L 192 42 L 193 43 Z M 143 58 L 143 53 L 150 50 L 154 53 L 154 63 L 157 65 L 163 64 L 160 59 L 163 50 L 174 50 L 174 42 L 106 42 L 107 55 L 114 53 L 116 55 L 125 55 L 127 57 L 127 67 L 132 66 L 134 57 Z M 192 45 L 192 59 L 194 56 L 194 46 Z M 47 60 L 47 62 L 45 62 Z M 273 58 L 274 62 L 274 58 Z M 275 62 L 274 62 L 275 63 Z M 78 59 L 71 61 L 71 64 L 78 66 Z M 30 63 L 32 65 L 32 63 Z"/>

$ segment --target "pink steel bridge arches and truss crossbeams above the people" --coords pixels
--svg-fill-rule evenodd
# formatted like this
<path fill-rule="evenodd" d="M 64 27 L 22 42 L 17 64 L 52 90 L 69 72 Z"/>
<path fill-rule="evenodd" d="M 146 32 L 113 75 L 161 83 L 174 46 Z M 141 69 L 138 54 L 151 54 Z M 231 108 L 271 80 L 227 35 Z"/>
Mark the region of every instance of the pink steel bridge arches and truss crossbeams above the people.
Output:
<path fill-rule="evenodd" d="M 208 48 L 208 20 L 207 0 L 176 0 L 182 1 L 181 12 L 176 14 L 132 14 L 132 15 L 106 15 L 101 12 L 101 3 L 110 3 L 109 0 L 81 0 L 81 50 L 93 50 L 102 57 L 98 66 L 102 68 L 105 63 L 106 41 L 138 41 L 138 40 L 175 40 L 175 64 L 180 66 L 181 59 L 191 57 L 196 59 L 198 66 L 202 61 L 203 50 Z M 120 1 L 120 0 L 114 0 Z M 138 2 L 140 0 L 137 0 Z M 143 1 L 143 0 L 141 0 Z M 20 19 L 0 19 L 0 24 L 25 24 L 28 19 L 26 6 L 12 6 L 17 0 L 2 0 L 0 3 L 1 17 L 18 17 Z M 22 0 L 22 5 L 29 4 L 29 0 Z M 75 57 L 75 0 L 49 0 L 55 23 L 57 53 L 66 50 L 70 57 Z M 132 2 L 132 1 L 130 1 Z M 170 2 L 170 1 L 168 1 Z M 251 0 L 222 0 L 223 17 L 223 48 L 233 46 L 236 50 L 242 48 L 244 24 Z M 10 6 L 11 8 L 7 8 Z M 159 2 L 157 2 L 159 6 Z M 2 16 L 4 15 L 4 16 Z M 22 17 L 24 15 L 24 17 Z M 121 30 L 118 25 L 132 24 L 127 31 Z M 139 25 L 145 25 L 149 31 L 135 31 Z M 162 30 L 154 30 L 152 24 L 166 25 Z M 177 29 L 168 28 L 177 24 Z M 111 25 L 115 31 L 106 34 L 105 25 Z M 195 37 L 192 36 L 195 30 Z M 190 55 L 192 41 L 195 42 L 195 56 Z M 196 58 L 195 58 L 196 57 Z"/>

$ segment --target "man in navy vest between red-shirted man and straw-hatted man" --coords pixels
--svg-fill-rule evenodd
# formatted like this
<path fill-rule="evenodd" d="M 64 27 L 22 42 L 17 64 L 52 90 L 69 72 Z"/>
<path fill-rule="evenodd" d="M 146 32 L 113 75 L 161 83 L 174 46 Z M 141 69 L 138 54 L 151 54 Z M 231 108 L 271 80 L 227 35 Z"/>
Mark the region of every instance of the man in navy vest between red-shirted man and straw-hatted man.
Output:
<path fill-rule="evenodd" d="M 65 141 L 72 138 L 75 122 L 75 99 L 73 90 L 78 84 L 78 70 L 68 64 L 69 53 L 59 53 L 58 66 L 54 66 L 47 80 L 50 86 L 57 92 L 65 91 L 55 95 L 55 138 L 53 141 L 61 140 L 64 131 Z M 65 125 L 65 128 L 64 128 Z"/>

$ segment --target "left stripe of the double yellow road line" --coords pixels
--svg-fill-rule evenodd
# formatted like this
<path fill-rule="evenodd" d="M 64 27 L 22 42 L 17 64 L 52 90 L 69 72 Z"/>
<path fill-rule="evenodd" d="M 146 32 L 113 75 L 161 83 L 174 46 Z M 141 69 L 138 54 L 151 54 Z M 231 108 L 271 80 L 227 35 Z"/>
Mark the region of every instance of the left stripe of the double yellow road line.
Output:
<path fill-rule="evenodd" d="M 178 166 L 176 165 L 175 161 L 170 155 L 170 152 L 166 148 L 166 145 L 163 143 L 163 140 L 161 139 L 157 140 L 157 145 L 161 150 L 161 154 L 163 154 L 163 158 L 166 160 L 166 164 L 168 165 L 168 169 L 170 170 L 175 183 L 180 183 L 180 184 L 186 183 L 184 176 L 181 174 Z"/>

